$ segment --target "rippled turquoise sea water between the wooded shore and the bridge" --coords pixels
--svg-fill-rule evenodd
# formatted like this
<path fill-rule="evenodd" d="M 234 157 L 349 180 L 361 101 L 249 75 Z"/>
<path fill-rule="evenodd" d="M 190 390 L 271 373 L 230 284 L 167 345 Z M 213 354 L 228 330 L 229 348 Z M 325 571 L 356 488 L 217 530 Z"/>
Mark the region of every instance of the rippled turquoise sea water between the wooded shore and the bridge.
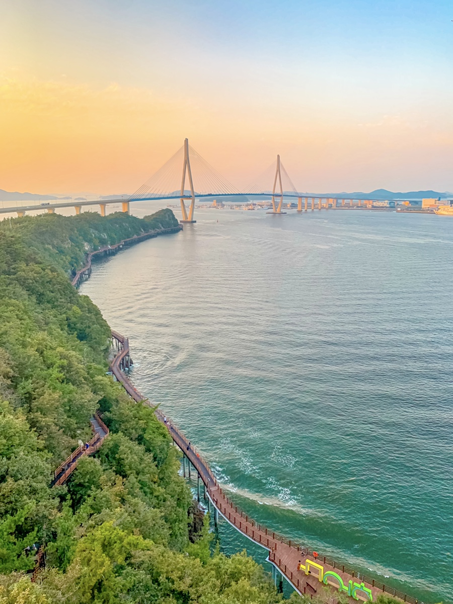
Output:
<path fill-rule="evenodd" d="M 135 385 L 257 521 L 453 600 L 453 220 L 196 217 L 82 287 L 129 335 Z"/>

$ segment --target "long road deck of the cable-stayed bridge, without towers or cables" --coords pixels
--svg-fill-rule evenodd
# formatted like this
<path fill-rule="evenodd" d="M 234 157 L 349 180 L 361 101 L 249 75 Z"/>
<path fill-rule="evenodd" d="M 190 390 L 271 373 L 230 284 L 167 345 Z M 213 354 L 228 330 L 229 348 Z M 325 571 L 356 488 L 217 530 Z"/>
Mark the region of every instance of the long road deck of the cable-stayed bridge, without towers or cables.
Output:
<path fill-rule="evenodd" d="M 222 197 L 231 197 L 231 196 L 238 196 L 238 195 L 242 195 L 245 198 L 269 198 L 269 202 L 272 199 L 272 193 L 269 193 L 268 191 L 264 191 L 263 193 L 206 193 L 206 194 L 197 194 L 195 196 L 196 199 L 203 199 L 203 198 L 222 198 Z M 275 194 L 276 198 L 280 198 L 279 194 Z M 332 197 L 332 196 L 327 196 L 327 195 L 309 195 L 307 196 L 306 194 L 302 194 L 302 193 L 284 193 L 283 198 L 289 198 L 289 199 L 310 199 L 310 200 L 318 200 L 318 203 L 316 204 L 316 207 L 313 204 L 309 204 L 309 207 L 307 209 L 316 209 L 316 210 L 320 210 L 320 203 L 322 204 L 321 200 L 324 201 L 324 204 L 322 204 L 322 207 L 325 209 L 326 208 L 326 203 L 329 204 L 329 202 L 332 202 L 333 207 L 331 207 L 330 209 L 347 209 L 348 207 L 352 207 L 353 202 L 356 202 L 355 205 L 361 205 L 361 204 L 370 204 L 370 202 L 373 201 L 381 201 L 382 199 L 358 199 L 358 198 L 336 198 L 336 197 Z M 99 205 L 101 208 L 101 216 L 105 216 L 105 208 L 106 205 L 112 205 L 112 204 L 121 204 L 122 206 L 122 211 L 123 212 L 129 212 L 129 204 L 132 202 L 136 202 L 136 201 L 171 201 L 173 199 L 181 199 L 181 194 L 178 195 L 169 195 L 169 196 L 158 196 L 158 197 L 144 197 L 144 198 L 137 198 L 137 199 L 130 199 L 130 198 L 118 198 L 118 199 L 98 199 L 97 201 L 64 201 L 64 202 L 55 202 L 55 203 L 50 203 L 50 204 L 29 204 L 29 205 L 15 205 L 15 206 L 10 206 L 10 207 L 0 207 L 0 214 L 7 214 L 7 213 L 14 213 L 16 212 L 18 214 L 18 216 L 24 216 L 25 212 L 27 211 L 34 211 L 34 210 L 46 210 L 48 211 L 48 213 L 54 213 L 54 211 L 58 208 L 75 208 L 76 209 L 76 214 L 80 213 L 80 210 L 82 209 L 82 207 L 87 206 L 87 205 Z M 183 199 L 191 199 L 188 197 L 184 197 Z M 338 206 L 338 202 L 341 202 L 342 205 Z M 349 204 L 344 204 L 344 202 L 349 202 Z M 301 207 L 298 208 L 299 211 L 301 211 Z"/>

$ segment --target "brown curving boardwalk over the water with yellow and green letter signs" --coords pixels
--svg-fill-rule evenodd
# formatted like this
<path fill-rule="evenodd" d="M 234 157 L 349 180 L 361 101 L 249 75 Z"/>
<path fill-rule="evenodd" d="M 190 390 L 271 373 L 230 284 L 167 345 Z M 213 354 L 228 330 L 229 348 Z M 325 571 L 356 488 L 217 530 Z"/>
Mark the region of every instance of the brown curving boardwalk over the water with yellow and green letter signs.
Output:
<path fill-rule="evenodd" d="M 149 400 L 133 387 L 132 383 L 123 373 L 124 368 L 130 367 L 132 364 L 130 360 L 129 339 L 118 332 L 112 331 L 112 341 L 116 348 L 115 356 L 111 361 L 112 373 L 133 400 L 153 408 Z M 154 412 L 159 421 L 165 423 L 165 416 L 162 411 L 155 409 Z M 347 565 L 340 564 L 320 553 L 310 551 L 308 547 L 298 545 L 294 541 L 286 539 L 278 535 L 278 533 L 257 524 L 234 505 L 219 483 L 217 483 L 207 461 L 190 444 L 184 434 L 168 420 L 166 426 L 169 429 L 173 442 L 181 449 L 183 455 L 187 457 L 189 464 L 192 464 L 196 472 L 198 472 L 198 476 L 204 483 L 207 495 L 218 512 L 236 530 L 268 550 L 267 560 L 275 568 L 278 568 L 280 573 L 286 577 L 298 593 L 306 594 L 307 596 L 310 595 L 312 599 L 313 596 L 320 597 L 323 600 L 323 584 L 329 584 L 335 590 L 338 590 L 338 586 L 341 585 L 344 586 L 343 593 L 350 596 L 350 602 L 354 602 L 354 600 L 374 601 L 379 594 L 388 593 L 404 602 L 421 604 L 419 600 L 411 596 L 394 590 L 370 577 L 365 577 L 348 568 Z M 303 565 L 302 569 L 299 568 L 300 563 Z"/>

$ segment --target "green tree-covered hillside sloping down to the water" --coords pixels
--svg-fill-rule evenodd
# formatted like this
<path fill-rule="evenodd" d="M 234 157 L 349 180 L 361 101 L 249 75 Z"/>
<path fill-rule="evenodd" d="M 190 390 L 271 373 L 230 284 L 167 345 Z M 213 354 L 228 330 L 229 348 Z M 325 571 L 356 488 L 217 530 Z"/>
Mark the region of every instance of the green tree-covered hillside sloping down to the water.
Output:
<path fill-rule="evenodd" d="M 0 604 L 280 599 L 251 558 L 200 530 L 166 429 L 106 375 L 109 326 L 69 283 L 86 251 L 172 225 L 171 210 L 0 223 Z M 109 438 L 51 489 L 97 409 Z M 36 583 L 33 544 L 47 553 Z"/>

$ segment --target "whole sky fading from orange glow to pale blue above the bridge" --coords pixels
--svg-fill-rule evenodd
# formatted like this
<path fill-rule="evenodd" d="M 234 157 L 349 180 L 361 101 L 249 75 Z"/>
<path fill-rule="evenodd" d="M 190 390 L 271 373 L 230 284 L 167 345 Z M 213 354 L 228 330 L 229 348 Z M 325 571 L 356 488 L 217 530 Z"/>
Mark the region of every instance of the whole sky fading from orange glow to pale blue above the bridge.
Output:
<path fill-rule="evenodd" d="M 188 137 L 239 188 L 280 153 L 301 191 L 453 191 L 452 19 L 446 0 L 2 0 L 0 188 L 132 193 Z"/>

